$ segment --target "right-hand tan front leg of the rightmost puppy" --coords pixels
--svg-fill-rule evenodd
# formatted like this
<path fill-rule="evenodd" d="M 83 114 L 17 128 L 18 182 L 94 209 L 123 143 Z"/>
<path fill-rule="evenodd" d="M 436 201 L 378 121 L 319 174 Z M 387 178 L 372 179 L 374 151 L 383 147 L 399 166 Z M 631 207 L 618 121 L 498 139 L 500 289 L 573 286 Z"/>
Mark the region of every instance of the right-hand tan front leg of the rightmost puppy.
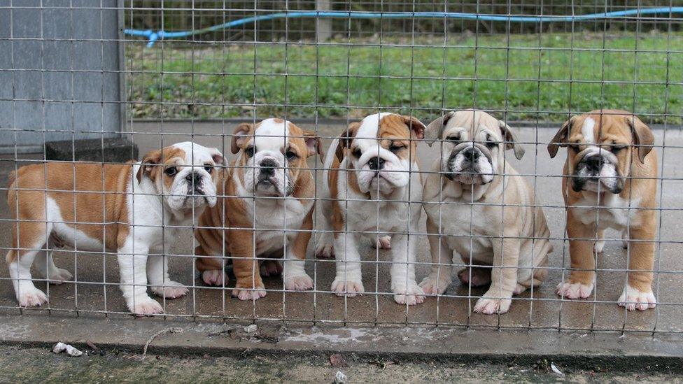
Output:
<path fill-rule="evenodd" d="M 654 267 L 654 218 L 649 227 L 631 228 L 631 246 L 628 255 L 628 283 L 619 297 L 619 306 L 628 311 L 645 311 L 656 306 L 652 292 L 652 269 Z"/>

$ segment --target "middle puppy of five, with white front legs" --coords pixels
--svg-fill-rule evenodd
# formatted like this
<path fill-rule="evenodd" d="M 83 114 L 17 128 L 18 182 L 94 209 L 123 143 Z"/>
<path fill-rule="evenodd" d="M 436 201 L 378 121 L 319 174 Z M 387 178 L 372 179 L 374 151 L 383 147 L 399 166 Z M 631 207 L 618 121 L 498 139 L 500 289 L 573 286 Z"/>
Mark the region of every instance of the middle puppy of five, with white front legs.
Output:
<path fill-rule="evenodd" d="M 424 292 L 415 282 L 415 241 L 422 188 L 416 139 L 425 126 L 416 118 L 378 113 L 348 126 L 332 141 L 323 171 L 321 208 L 325 233 L 316 253 L 334 252 L 337 276 L 332 291 L 364 292 L 358 246 L 362 232 L 391 236 L 391 290 L 399 304 L 418 304 Z M 378 217 L 379 215 L 379 217 Z M 333 234 L 332 234 L 333 231 Z"/>

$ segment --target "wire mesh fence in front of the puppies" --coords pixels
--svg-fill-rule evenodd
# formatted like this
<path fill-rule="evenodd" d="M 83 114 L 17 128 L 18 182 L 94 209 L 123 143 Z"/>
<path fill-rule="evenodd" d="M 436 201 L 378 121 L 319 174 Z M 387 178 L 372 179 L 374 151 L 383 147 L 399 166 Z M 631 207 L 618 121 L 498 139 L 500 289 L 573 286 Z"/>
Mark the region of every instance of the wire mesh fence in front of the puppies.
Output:
<path fill-rule="evenodd" d="M 0 307 L 682 332 L 675 5 L 0 1 Z"/>

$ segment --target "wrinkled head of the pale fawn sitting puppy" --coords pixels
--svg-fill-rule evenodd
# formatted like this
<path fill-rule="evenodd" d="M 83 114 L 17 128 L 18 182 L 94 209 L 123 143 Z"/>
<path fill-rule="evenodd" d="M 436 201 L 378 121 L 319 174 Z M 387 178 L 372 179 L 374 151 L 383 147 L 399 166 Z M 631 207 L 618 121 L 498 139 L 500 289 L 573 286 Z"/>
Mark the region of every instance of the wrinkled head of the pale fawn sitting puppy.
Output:
<path fill-rule="evenodd" d="M 512 128 L 484 111 L 446 113 L 430 122 L 426 136 L 442 140 L 441 171 L 456 183 L 487 185 L 502 172 L 506 149 L 517 159 L 524 155 Z"/>

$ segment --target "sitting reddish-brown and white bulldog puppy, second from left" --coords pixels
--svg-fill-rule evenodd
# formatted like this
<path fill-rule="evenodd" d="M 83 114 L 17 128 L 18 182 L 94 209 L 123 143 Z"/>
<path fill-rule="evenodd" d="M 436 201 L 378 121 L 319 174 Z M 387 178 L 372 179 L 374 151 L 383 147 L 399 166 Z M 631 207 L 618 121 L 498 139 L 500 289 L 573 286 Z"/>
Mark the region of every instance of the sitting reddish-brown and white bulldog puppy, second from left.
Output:
<path fill-rule="evenodd" d="M 239 125 L 231 147 L 239 156 L 218 183 L 220 202 L 204 211 L 195 231 L 197 269 L 204 283 L 227 283 L 223 260 L 216 258 L 225 250 L 237 278 L 233 297 L 264 297 L 260 275 L 283 271 L 287 290 L 311 289 L 304 262 L 313 229 L 315 183 L 307 159 L 320 153 L 320 140 L 292 122 L 267 119 Z M 283 254 L 284 270 L 275 260 L 255 259 Z"/>

